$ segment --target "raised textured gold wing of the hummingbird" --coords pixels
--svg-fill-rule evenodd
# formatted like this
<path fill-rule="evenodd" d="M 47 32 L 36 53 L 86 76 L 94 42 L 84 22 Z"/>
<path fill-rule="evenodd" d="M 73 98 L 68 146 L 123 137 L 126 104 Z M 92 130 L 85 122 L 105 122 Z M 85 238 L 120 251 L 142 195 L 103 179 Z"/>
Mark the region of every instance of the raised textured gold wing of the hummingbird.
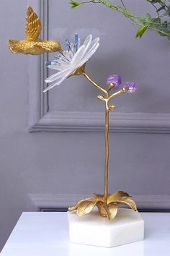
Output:
<path fill-rule="evenodd" d="M 31 7 L 27 7 L 27 23 L 25 27 L 26 39 L 37 40 L 41 32 L 41 22 Z"/>

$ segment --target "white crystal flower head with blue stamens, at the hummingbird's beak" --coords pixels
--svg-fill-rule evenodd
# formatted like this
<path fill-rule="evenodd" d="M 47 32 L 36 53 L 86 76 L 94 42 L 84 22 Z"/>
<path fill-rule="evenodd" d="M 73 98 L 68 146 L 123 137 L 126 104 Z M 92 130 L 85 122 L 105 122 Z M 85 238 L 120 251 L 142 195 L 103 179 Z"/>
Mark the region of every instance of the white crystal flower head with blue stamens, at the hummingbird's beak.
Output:
<path fill-rule="evenodd" d="M 70 43 L 67 39 L 66 45 L 68 50 L 63 51 L 63 54 L 55 56 L 55 60 L 47 61 L 48 68 L 55 69 L 58 72 L 52 74 L 45 80 L 45 82 L 52 84 L 44 90 L 44 93 L 55 85 L 60 85 L 63 80 L 73 75 L 77 69 L 83 67 L 84 64 L 86 64 L 86 61 L 89 61 L 91 56 L 97 51 L 97 48 L 99 47 L 99 38 L 92 40 L 92 35 L 89 35 L 80 46 L 80 38 L 78 38 L 78 34 L 76 34 L 74 43 Z M 81 74 L 81 72 L 79 72 L 79 74 Z"/>

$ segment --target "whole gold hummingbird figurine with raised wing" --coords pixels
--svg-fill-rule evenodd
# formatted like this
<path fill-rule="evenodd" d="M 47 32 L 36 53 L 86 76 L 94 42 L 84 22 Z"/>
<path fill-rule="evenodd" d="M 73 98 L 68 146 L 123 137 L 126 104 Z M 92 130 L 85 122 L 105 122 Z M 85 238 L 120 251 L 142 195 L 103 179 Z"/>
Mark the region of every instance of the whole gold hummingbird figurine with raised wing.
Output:
<path fill-rule="evenodd" d="M 61 44 L 57 40 L 40 40 L 42 25 L 32 7 L 27 7 L 27 22 L 25 27 L 25 40 L 9 40 L 8 46 L 13 54 L 38 55 L 45 52 L 58 51 L 63 53 Z"/>

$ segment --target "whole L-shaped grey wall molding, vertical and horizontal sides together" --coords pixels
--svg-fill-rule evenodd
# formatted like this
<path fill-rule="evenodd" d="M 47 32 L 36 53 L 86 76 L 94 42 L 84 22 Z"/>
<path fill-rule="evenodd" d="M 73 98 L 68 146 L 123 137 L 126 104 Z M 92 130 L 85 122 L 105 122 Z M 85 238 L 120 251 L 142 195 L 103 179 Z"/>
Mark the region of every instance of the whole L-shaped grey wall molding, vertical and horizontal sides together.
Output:
<path fill-rule="evenodd" d="M 42 21 L 41 38 L 48 40 L 48 0 L 30 0 Z M 29 127 L 30 132 L 103 132 L 104 112 L 49 111 L 45 78 L 48 54 L 29 56 Z M 110 132 L 169 133 L 169 114 L 114 113 L 110 116 Z"/>

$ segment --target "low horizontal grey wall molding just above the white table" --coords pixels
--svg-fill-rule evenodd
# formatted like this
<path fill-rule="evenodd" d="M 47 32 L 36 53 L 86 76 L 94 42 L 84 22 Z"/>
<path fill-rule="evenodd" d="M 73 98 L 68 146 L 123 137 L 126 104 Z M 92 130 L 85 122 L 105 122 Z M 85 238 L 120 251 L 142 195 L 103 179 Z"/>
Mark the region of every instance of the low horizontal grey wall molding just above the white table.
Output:
<path fill-rule="evenodd" d="M 30 199 L 39 209 L 68 208 L 89 194 L 29 194 Z M 170 195 L 133 195 L 140 210 L 170 210 Z"/>

